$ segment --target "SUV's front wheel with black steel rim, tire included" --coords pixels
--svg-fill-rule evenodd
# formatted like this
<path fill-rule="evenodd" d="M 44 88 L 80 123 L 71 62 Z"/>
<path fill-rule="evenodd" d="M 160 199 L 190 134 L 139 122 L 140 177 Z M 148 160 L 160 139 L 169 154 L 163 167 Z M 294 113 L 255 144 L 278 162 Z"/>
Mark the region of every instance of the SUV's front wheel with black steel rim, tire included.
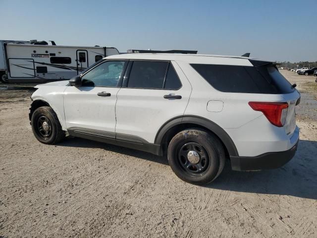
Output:
<path fill-rule="evenodd" d="M 44 144 L 56 144 L 65 138 L 59 120 L 51 107 L 36 109 L 31 118 L 35 138 Z"/>

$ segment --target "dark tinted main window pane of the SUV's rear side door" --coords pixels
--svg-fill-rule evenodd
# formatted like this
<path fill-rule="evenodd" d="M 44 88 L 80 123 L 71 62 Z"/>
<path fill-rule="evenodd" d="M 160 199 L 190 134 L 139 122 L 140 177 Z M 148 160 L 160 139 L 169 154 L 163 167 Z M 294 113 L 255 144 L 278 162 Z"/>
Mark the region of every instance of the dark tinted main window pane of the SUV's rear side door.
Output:
<path fill-rule="evenodd" d="M 128 88 L 163 88 L 167 62 L 134 61 Z"/>

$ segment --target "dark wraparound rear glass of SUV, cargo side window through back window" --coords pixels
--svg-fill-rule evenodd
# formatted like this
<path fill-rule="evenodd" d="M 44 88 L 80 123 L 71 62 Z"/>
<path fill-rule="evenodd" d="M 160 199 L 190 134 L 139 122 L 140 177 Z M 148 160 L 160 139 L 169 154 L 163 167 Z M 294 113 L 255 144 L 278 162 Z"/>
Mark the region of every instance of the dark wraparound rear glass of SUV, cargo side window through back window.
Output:
<path fill-rule="evenodd" d="M 255 64 L 254 64 L 255 65 Z M 257 66 L 191 64 L 215 89 L 231 93 L 284 94 L 292 85 L 272 64 Z"/>

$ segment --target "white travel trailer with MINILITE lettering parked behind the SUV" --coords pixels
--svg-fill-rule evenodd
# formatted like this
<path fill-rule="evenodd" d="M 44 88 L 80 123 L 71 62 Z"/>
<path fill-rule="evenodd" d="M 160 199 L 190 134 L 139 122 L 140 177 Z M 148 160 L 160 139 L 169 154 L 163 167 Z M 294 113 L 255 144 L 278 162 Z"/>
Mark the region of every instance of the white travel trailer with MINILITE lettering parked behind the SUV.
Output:
<path fill-rule="evenodd" d="M 119 54 L 118 50 L 113 47 L 12 43 L 3 44 L 3 47 L 6 73 L 2 76 L 2 80 L 9 83 L 70 79 L 98 60 Z"/>

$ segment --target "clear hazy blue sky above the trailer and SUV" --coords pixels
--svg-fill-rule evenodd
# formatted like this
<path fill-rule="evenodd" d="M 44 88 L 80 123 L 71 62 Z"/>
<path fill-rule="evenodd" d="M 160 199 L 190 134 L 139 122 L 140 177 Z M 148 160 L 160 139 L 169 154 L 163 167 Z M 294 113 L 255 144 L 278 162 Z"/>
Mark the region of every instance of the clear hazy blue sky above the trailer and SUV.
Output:
<path fill-rule="evenodd" d="M 1 40 L 317 61 L 317 0 L 0 0 Z"/>

